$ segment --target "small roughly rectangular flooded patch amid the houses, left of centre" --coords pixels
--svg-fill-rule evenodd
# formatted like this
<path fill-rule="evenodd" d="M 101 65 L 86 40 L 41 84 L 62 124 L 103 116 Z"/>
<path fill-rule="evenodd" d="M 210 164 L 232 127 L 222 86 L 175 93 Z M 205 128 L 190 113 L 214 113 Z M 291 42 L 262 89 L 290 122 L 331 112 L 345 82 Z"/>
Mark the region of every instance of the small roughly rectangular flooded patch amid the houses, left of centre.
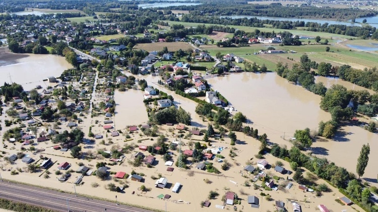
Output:
<path fill-rule="evenodd" d="M 125 92 L 114 92 L 116 129 L 123 129 L 128 125 L 138 125 L 148 121 L 143 95 L 143 91 L 133 89 Z"/>

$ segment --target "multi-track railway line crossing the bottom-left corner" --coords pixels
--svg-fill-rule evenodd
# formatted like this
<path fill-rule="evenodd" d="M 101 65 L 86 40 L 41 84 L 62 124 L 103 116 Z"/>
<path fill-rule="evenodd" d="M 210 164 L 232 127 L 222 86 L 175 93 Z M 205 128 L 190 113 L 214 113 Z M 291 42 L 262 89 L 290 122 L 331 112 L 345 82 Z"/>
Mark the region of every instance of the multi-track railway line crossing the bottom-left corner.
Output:
<path fill-rule="evenodd" d="M 114 196 L 117 193 L 114 193 Z M 93 211 L 93 212 L 152 212 L 138 207 L 117 205 L 97 199 L 75 196 L 73 194 L 42 189 L 17 183 L 0 181 L 0 198 L 38 205 L 55 211 Z"/>

